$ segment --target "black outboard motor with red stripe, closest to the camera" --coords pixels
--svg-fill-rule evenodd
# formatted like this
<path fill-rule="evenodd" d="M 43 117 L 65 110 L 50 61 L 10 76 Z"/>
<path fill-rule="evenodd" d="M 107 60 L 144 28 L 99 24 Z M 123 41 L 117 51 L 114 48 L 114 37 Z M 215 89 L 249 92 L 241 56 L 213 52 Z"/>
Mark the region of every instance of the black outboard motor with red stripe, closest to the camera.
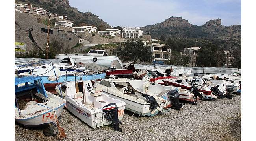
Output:
<path fill-rule="evenodd" d="M 121 121 L 118 120 L 118 108 L 117 104 L 115 103 L 110 103 L 106 106 L 103 107 L 103 112 L 106 112 L 107 114 L 105 115 L 105 118 L 108 121 L 112 121 L 112 125 L 114 130 L 122 132 L 122 128 L 119 127 L 119 124 L 122 124 Z"/>

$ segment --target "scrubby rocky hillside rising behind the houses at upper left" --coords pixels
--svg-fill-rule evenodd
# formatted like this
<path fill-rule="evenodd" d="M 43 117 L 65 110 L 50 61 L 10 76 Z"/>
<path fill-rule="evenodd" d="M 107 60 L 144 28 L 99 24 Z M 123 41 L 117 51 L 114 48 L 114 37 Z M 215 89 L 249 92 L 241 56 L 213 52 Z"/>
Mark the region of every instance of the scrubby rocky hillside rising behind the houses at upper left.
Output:
<path fill-rule="evenodd" d="M 91 12 L 83 13 L 78 11 L 77 8 L 70 7 L 68 0 L 15 0 L 15 3 L 32 4 L 32 7 L 42 7 L 49 10 L 50 13 L 67 16 L 68 20 L 74 21 L 74 27 L 82 23 L 103 28 L 111 27 Z"/>

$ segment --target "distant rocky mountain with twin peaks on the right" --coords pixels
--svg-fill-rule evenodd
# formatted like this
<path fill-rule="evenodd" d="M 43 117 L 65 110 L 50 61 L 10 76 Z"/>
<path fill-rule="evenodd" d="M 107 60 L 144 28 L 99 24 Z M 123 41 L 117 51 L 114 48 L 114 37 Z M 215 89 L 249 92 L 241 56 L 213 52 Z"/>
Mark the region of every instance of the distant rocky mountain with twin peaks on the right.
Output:
<path fill-rule="evenodd" d="M 241 25 L 223 26 L 221 19 L 210 20 L 197 26 L 182 17 L 170 17 L 161 23 L 141 27 L 141 30 L 143 34 L 151 34 L 152 38 L 165 36 L 201 41 L 214 40 L 225 45 L 241 46 Z"/>

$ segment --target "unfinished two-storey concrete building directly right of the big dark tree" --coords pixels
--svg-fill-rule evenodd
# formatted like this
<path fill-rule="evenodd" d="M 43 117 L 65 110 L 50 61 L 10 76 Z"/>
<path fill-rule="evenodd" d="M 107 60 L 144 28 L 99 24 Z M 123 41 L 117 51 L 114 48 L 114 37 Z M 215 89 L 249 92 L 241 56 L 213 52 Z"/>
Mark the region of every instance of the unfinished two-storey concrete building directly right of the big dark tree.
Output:
<path fill-rule="evenodd" d="M 165 47 L 164 44 L 152 43 L 151 51 L 156 61 L 170 60 L 171 58 L 171 49 Z"/>

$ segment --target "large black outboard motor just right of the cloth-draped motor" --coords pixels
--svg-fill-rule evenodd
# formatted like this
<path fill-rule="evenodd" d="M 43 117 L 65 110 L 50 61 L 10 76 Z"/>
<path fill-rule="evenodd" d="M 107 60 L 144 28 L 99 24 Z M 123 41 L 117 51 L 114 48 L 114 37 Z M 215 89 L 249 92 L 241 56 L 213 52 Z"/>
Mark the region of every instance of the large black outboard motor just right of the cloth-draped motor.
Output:
<path fill-rule="evenodd" d="M 178 93 L 178 90 L 176 90 L 176 89 L 170 90 L 169 92 L 167 92 L 167 96 L 171 101 L 172 109 L 176 109 L 176 110 L 183 109 L 182 104 L 180 104 L 180 102 L 179 102 L 180 94 Z"/>

